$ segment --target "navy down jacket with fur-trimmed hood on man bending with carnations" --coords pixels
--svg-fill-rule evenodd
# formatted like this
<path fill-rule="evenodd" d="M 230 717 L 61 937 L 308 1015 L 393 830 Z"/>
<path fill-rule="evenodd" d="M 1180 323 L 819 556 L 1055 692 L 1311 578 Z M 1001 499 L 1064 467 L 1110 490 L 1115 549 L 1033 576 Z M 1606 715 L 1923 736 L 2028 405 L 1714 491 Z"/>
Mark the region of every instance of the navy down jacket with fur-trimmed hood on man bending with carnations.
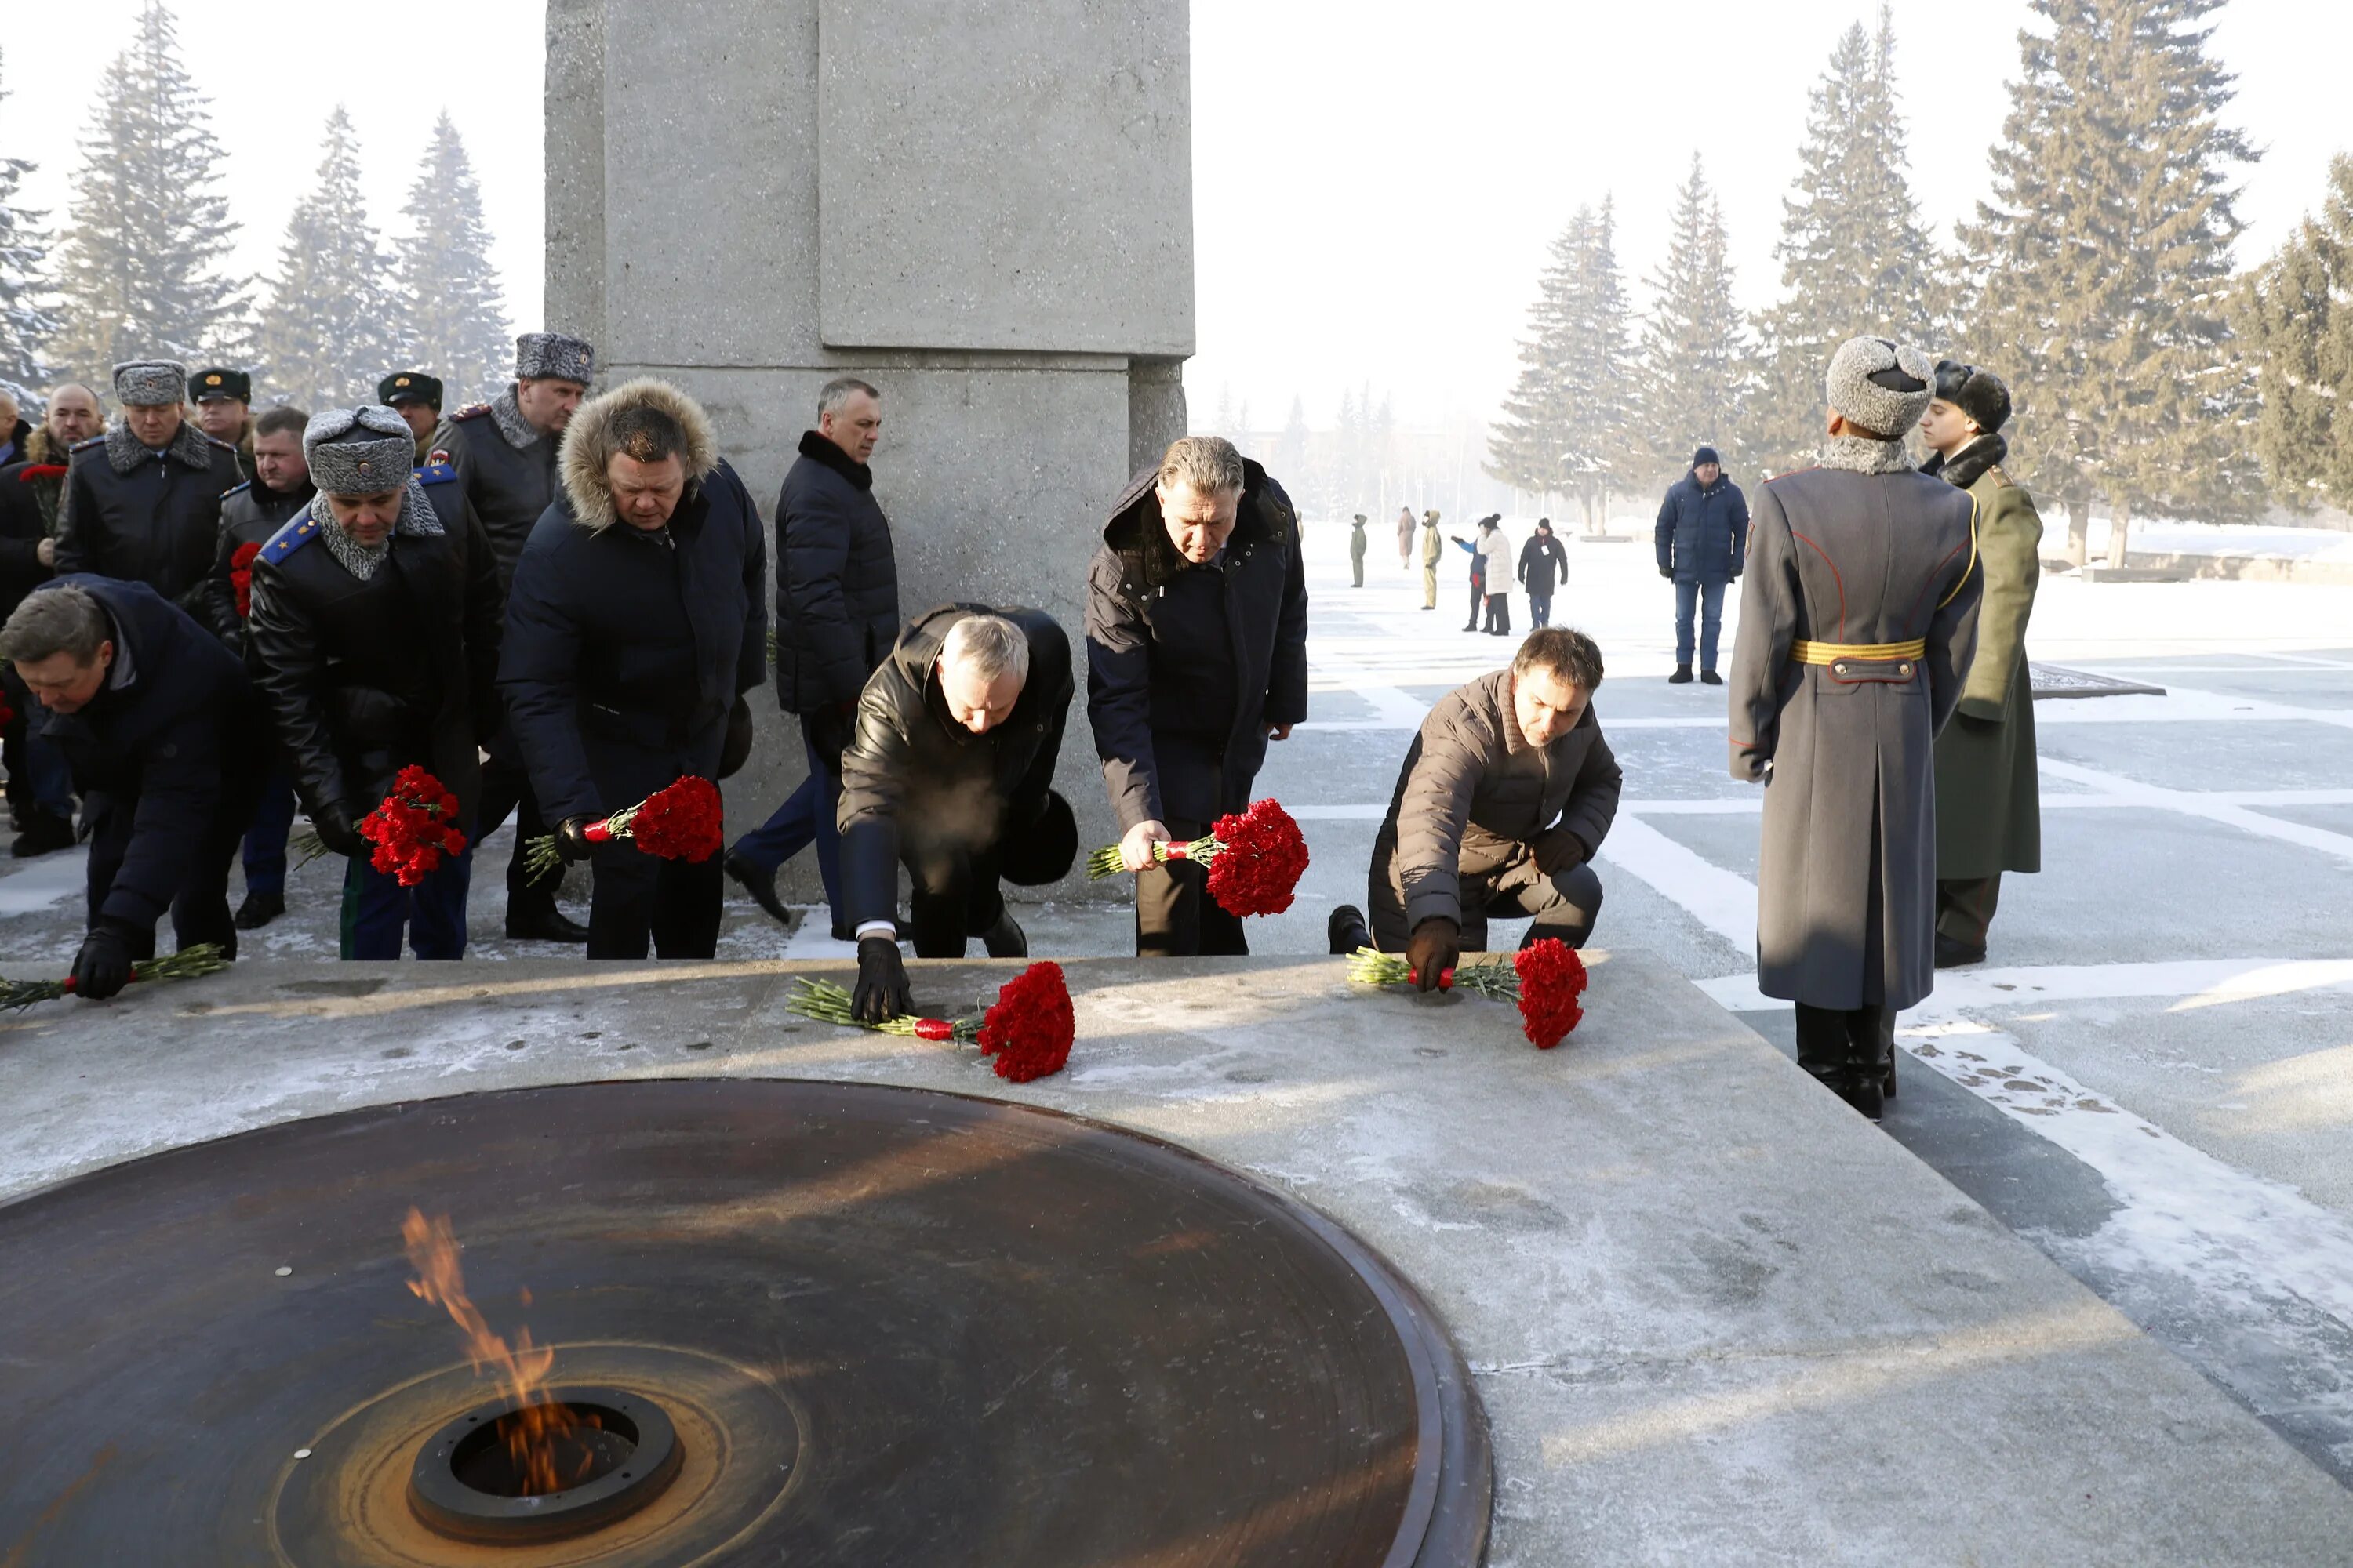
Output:
<path fill-rule="evenodd" d="M 633 407 L 687 433 L 687 489 L 652 531 L 605 487 L 614 418 Z M 767 541 L 711 416 L 654 378 L 581 404 L 499 646 L 508 733 L 546 820 L 609 816 L 685 773 L 715 780 L 727 715 L 765 677 Z"/>

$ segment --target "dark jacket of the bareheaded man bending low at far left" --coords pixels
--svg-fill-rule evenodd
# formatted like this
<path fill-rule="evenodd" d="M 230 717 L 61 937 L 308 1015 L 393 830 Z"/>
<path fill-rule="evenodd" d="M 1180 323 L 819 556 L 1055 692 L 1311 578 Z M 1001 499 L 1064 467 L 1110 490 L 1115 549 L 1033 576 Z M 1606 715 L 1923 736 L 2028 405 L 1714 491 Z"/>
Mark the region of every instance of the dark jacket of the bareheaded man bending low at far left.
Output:
<path fill-rule="evenodd" d="M 80 712 L 33 710 L 73 769 L 89 832 L 92 924 L 155 929 L 221 818 L 252 816 L 268 764 L 238 656 L 146 583 L 66 576 L 115 623 L 108 686 Z"/>

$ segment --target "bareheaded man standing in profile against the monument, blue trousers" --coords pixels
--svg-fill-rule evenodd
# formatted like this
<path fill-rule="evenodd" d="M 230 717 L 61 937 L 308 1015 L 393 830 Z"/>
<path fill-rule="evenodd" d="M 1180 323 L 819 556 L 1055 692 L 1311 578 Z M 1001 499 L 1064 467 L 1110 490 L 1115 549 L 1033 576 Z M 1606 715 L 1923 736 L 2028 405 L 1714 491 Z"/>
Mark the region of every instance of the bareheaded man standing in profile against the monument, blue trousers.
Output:
<path fill-rule="evenodd" d="M 816 844 L 816 875 L 833 940 L 849 940 L 842 907 L 842 748 L 866 677 L 899 639 L 899 557 L 875 501 L 871 458 L 882 435 L 882 393 L 838 376 L 816 393 L 816 430 L 776 496 L 776 701 L 800 717 L 809 773 L 727 851 L 734 877 L 762 910 L 786 919 L 776 867 Z"/>

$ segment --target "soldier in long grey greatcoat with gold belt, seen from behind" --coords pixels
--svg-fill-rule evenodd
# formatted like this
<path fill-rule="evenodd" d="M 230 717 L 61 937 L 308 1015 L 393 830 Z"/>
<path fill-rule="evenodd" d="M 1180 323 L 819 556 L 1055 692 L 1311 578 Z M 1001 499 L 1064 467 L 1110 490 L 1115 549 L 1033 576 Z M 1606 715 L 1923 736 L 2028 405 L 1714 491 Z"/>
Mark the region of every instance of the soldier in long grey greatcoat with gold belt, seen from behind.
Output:
<path fill-rule="evenodd" d="M 1897 1011 L 1937 978 L 1932 748 L 1984 592 L 1974 503 L 1904 456 L 1934 374 L 1887 339 L 1833 355 L 1819 468 L 1758 496 L 1732 651 L 1732 776 L 1767 785 L 1758 990 L 1798 1004 L 1798 1065 L 1871 1119 Z"/>

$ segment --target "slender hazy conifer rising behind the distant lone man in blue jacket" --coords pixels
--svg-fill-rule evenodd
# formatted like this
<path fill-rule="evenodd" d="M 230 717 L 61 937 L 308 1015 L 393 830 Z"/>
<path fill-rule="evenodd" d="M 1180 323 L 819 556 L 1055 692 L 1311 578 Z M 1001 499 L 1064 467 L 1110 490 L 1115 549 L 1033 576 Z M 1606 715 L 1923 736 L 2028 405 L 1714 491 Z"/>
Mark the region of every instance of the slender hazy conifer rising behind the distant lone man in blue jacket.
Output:
<path fill-rule="evenodd" d="M 1680 475 L 1701 442 L 1727 465 L 1746 468 L 1748 329 L 1732 299 L 1732 242 L 1725 214 L 1692 153 L 1692 176 L 1675 193 L 1675 233 L 1652 273 L 1654 303 L 1642 327 L 1642 423 L 1635 449 L 1642 477 Z"/>

